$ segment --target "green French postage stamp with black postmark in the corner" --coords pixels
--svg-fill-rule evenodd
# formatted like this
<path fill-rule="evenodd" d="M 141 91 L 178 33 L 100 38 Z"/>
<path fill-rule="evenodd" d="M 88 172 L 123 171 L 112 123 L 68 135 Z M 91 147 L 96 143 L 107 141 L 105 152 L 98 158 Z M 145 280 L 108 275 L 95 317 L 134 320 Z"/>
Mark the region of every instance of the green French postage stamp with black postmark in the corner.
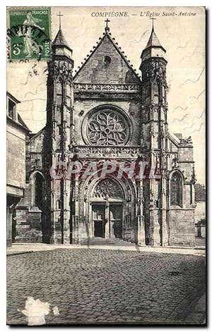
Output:
<path fill-rule="evenodd" d="M 9 59 L 51 57 L 50 8 L 8 8 Z"/>

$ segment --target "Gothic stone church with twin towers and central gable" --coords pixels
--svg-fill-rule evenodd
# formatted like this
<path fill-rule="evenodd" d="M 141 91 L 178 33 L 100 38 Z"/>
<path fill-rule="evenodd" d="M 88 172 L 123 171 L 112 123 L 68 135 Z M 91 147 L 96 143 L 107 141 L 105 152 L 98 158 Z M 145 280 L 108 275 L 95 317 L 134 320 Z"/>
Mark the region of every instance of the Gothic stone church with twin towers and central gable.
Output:
<path fill-rule="evenodd" d="M 153 28 L 138 49 L 140 77 L 106 25 L 73 75 L 74 50 L 59 28 L 47 63 L 47 123 L 26 140 L 13 241 L 194 245 L 193 146 L 168 130 L 165 53 Z M 82 168 L 67 178 L 71 161 Z M 105 161 L 117 169 L 83 178 L 94 161 L 97 173 Z M 139 161 L 144 177 L 117 176 L 120 163 Z"/>

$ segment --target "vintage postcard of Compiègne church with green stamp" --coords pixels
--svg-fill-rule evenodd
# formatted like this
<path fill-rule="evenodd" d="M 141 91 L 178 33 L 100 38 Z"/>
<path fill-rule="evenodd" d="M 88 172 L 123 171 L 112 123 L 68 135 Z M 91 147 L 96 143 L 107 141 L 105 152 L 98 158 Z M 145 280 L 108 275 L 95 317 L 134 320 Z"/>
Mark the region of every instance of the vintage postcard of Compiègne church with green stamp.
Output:
<path fill-rule="evenodd" d="M 205 8 L 6 11 L 7 324 L 206 324 Z"/>

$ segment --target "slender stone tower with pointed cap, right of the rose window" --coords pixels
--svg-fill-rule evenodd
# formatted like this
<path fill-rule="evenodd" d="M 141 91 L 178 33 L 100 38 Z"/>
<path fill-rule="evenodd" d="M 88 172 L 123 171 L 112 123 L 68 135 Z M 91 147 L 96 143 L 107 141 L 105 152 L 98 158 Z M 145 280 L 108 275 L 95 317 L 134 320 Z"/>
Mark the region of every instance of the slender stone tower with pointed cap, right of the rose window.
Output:
<path fill-rule="evenodd" d="M 151 169 L 143 181 L 146 237 L 150 245 L 167 245 L 167 99 L 165 49 L 154 28 L 141 54 L 141 148 L 148 152 Z M 160 171 L 159 171 L 160 170 Z"/>

